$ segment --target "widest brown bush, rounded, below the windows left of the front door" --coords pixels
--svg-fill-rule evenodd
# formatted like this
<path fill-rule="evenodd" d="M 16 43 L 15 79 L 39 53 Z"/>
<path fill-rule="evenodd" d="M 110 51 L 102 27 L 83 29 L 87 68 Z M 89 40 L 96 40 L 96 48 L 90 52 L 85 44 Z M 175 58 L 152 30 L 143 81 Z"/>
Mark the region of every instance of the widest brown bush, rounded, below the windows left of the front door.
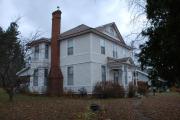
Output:
<path fill-rule="evenodd" d="M 112 81 L 98 82 L 93 90 L 93 96 L 97 98 L 122 98 L 124 94 L 124 88 Z"/>

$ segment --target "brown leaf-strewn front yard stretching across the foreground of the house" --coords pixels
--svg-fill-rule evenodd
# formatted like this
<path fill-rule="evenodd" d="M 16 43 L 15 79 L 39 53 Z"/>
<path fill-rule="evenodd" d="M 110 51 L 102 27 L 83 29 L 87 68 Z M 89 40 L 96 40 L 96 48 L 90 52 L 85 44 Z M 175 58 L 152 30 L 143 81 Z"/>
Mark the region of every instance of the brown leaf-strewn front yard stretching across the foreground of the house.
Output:
<path fill-rule="evenodd" d="M 92 103 L 100 105 L 91 112 Z M 142 99 L 90 99 L 16 95 L 0 89 L 0 120 L 180 120 L 180 94 L 161 93 Z"/>

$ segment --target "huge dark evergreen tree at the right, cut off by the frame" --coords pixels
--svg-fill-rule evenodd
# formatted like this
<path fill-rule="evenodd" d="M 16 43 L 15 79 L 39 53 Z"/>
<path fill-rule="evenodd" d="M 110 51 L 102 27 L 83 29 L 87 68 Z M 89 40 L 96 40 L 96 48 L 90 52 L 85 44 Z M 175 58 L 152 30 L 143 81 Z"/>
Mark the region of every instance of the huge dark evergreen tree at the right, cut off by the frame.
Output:
<path fill-rule="evenodd" d="M 152 76 L 169 83 L 180 82 L 180 1 L 147 0 L 150 26 L 142 34 L 148 41 L 141 45 L 142 67 L 152 66 Z M 172 85 L 171 84 L 171 85 Z"/>

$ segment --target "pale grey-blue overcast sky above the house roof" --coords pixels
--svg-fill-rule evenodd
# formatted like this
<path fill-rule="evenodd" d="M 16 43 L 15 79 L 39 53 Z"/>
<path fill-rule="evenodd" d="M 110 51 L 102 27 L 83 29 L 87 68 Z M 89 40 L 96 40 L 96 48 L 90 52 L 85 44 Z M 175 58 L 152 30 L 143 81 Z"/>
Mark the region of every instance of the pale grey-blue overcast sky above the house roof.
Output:
<path fill-rule="evenodd" d="M 42 37 L 50 37 L 51 13 L 57 6 L 62 11 L 61 32 L 80 24 L 97 27 L 115 22 L 128 43 L 125 36 L 135 28 L 130 24 L 127 0 L 0 0 L 0 26 L 6 29 L 20 17 L 21 36 L 28 38 L 40 31 Z"/>

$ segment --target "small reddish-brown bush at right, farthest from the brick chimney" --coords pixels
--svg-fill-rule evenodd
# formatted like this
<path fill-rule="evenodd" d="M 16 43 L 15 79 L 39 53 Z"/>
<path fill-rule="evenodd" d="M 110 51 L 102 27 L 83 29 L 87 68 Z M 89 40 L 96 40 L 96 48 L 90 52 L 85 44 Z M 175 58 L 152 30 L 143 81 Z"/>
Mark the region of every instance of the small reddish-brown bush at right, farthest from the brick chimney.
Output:
<path fill-rule="evenodd" d="M 148 92 L 148 85 L 146 82 L 143 81 L 138 81 L 138 93 L 141 95 L 146 95 L 146 93 Z"/>

